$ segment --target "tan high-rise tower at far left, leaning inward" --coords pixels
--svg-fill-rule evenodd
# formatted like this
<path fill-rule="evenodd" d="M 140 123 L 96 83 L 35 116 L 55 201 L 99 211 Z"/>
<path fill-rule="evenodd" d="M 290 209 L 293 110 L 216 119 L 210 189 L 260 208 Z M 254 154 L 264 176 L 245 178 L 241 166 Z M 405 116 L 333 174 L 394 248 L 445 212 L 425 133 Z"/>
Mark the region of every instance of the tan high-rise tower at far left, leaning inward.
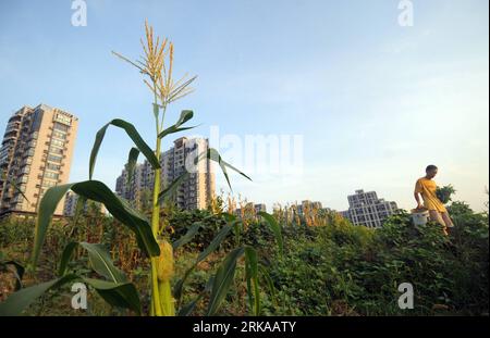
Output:
<path fill-rule="evenodd" d="M 0 214 L 35 213 L 46 190 L 68 183 L 77 127 L 75 116 L 46 104 L 10 117 L 0 148 Z"/>

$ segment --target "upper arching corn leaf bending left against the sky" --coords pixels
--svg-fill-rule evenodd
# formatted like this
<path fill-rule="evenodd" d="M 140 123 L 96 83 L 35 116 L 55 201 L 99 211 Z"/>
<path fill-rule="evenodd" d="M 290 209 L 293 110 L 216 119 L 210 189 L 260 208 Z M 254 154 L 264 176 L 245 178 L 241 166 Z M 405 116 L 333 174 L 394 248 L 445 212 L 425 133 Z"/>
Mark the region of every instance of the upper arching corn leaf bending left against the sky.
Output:
<path fill-rule="evenodd" d="M 106 136 L 107 128 L 112 125 L 119 128 L 122 128 L 126 132 L 127 136 L 133 140 L 136 148 L 146 157 L 148 162 L 151 164 L 154 168 L 160 168 L 160 163 L 155 155 L 155 152 L 143 140 L 142 136 L 138 134 L 134 125 L 124 120 L 115 118 L 105 125 L 99 132 L 97 132 L 96 139 L 94 142 L 94 147 L 90 153 L 90 164 L 88 168 L 88 177 L 91 179 L 94 176 L 94 168 L 97 161 L 97 154 L 99 153 L 100 146 L 102 145 L 103 137 Z"/>

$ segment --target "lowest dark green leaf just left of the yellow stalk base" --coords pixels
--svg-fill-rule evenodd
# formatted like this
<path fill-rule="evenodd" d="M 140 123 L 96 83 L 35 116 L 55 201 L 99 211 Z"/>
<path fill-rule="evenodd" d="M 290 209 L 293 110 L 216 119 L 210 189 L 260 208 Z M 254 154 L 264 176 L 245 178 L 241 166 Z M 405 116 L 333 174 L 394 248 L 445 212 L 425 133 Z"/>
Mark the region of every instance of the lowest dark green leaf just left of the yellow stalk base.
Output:
<path fill-rule="evenodd" d="M 132 283 L 112 283 L 85 277 L 82 279 L 96 289 L 97 293 L 112 306 L 130 309 L 138 315 L 142 314 L 139 295 Z"/>

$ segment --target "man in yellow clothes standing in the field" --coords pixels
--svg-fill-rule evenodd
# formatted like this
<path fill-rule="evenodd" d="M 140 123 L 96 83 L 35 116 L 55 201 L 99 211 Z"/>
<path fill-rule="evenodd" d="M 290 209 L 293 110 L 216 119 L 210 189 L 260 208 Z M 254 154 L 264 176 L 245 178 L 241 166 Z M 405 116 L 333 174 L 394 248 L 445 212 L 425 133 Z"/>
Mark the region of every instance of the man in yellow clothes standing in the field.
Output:
<path fill-rule="evenodd" d="M 429 210 L 430 220 L 441 224 L 444 235 L 448 235 L 448 228 L 453 227 L 454 225 L 448 210 L 445 210 L 444 205 L 436 195 L 438 186 L 432 178 L 436 177 L 437 174 L 438 167 L 436 165 L 428 165 L 426 167 L 426 176 L 419 178 L 415 184 L 414 197 L 417 201 L 417 209 L 425 208 Z M 424 199 L 424 204 L 421 203 L 420 195 Z"/>

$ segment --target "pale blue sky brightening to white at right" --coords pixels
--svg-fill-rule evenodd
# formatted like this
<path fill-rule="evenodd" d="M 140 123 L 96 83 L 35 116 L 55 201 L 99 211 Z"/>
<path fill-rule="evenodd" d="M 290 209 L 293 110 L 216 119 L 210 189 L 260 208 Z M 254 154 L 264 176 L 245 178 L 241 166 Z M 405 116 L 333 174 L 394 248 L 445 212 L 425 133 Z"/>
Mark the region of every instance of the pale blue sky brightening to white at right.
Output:
<path fill-rule="evenodd" d="M 85 2 L 87 25 L 73 26 L 71 0 L 0 1 L 0 128 L 23 105 L 76 115 L 72 181 L 88 178 L 95 134 L 112 118 L 155 142 L 151 93 L 111 54 L 140 57 L 147 18 L 173 41 L 175 72 L 198 75 L 167 124 L 192 109 L 199 124 L 193 135 L 219 127 L 224 141 L 216 146 L 224 145 L 216 148 L 253 178 L 231 175 L 235 197 L 269 210 L 306 199 L 345 210 L 347 195 L 365 189 L 412 209 L 415 180 L 436 164 L 439 185 L 452 184 L 455 199 L 485 210 L 487 0 L 409 1 L 412 26 L 399 23 L 400 0 Z M 301 171 L 260 172 L 240 161 L 244 151 L 236 155 L 225 140 L 250 135 L 299 135 L 291 166 Z M 131 147 L 110 129 L 95 178 L 114 188 Z M 217 190 L 228 193 L 217 178 Z"/>

